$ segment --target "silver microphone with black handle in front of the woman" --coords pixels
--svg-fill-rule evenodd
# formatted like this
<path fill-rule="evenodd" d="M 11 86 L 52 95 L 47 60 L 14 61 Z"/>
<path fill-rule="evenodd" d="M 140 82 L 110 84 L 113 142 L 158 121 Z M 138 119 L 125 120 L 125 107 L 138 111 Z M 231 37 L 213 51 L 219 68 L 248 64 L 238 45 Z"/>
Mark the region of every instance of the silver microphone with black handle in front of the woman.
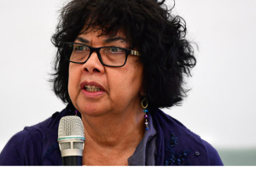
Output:
<path fill-rule="evenodd" d="M 58 142 L 63 167 L 82 167 L 84 150 L 84 125 L 79 116 L 61 118 Z"/>

